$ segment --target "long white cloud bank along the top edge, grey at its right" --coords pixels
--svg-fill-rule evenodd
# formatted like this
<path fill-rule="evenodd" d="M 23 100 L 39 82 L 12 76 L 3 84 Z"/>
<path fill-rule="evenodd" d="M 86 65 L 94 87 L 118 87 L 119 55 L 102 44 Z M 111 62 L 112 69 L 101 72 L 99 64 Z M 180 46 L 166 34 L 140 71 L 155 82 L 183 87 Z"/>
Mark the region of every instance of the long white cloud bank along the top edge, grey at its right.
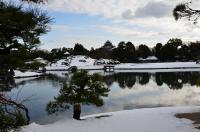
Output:
<path fill-rule="evenodd" d="M 177 3 L 177 0 L 173 1 Z M 48 7 L 62 12 L 127 19 L 133 16 L 162 17 L 168 15 L 174 6 L 171 3 L 170 0 L 167 2 L 165 0 L 49 0 Z"/>

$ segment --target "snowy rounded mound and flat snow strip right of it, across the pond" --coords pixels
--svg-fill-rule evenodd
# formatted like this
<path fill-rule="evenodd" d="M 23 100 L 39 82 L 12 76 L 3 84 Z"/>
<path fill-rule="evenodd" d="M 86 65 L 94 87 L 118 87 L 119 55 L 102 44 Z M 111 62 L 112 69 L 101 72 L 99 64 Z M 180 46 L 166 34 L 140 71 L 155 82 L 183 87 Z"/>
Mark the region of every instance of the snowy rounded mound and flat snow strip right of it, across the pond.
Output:
<path fill-rule="evenodd" d="M 104 62 L 108 62 L 108 59 L 102 59 Z M 76 66 L 78 69 L 85 70 L 103 70 L 104 65 L 94 65 L 95 59 L 86 56 L 70 56 L 68 59 L 62 59 L 48 65 L 47 70 L 67 70 L 69 67 Z M 68 65 L 65 65 L 67 63 Z M 121 63 L 115 65 L 115 70 L 156 70 L 160 69 L 198 69 L 200 70 L 200 64 L 196 62 L 164 62 L 164 63 Z M 169 70 L 168 70 L 169 71 Z M 184 70 L 183 70 L 184 71 Z"/>

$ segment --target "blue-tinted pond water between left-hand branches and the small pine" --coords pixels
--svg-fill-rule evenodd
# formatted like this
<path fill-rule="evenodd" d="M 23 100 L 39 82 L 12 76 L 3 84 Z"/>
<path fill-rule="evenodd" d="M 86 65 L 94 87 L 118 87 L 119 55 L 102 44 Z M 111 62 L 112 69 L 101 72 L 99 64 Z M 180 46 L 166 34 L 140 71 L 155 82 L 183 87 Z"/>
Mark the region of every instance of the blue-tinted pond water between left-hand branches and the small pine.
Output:
<path fill-rule="evenodd" d="M 14 101 L 23 102 L 29 109 L 31 122 L 46 122 L 43 121 L 48 116 L 46 104 L 58 94 L 64 82 L 66 79 L 54 75 L 16 79 L 15 85 L 3 93 Z M 24 102 L 25 99 L 28 100 Z"/>

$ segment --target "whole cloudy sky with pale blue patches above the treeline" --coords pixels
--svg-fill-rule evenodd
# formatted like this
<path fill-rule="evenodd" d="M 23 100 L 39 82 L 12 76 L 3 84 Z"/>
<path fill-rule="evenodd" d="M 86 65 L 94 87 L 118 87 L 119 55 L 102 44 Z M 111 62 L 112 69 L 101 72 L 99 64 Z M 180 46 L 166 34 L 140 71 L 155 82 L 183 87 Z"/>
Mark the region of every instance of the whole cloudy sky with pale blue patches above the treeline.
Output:
<path fill-rule="evenodd" d="M 199 39 L 200 22 L 193 25 L 187 20 L 175 21 L 171 15 L 173 8 L 185 1 L 188 0 L 49 0 L 47 10 L 56 12 L 55 14 L 66 13 L 66 18 L 72 20 L 75 20 L 73 15 L 76 14 L 86 14 L 83 17 L 94 18 L 92 24 L 95 27 L 91 26 L 91 19 L 85 20 L 84 24 L 80 19 L 80 22 L 70 23 L 70 26 L 65 21 L 66 26 L 52 27 L 52 31 L 59 31 L 53 35 L 59 34 L 59 40 L 65 38 L 63 43 L 70 39 L 70 42 L 80 41 L 83 44 L 88 43 L 88 47 L 94 44 L 98 47 L 109 39 L 145 44 L 152 42 L 152 45 L 155 45 L 157 42 L 165 43 L 168 39 L 176 37 L 183 40 Z M 197 0 L 194 0 L 193 4 L 200 7 Z M 90 43 L 90 40 L 95 41 Z M 67 45 L 70 45 L 70 42 Z"/>

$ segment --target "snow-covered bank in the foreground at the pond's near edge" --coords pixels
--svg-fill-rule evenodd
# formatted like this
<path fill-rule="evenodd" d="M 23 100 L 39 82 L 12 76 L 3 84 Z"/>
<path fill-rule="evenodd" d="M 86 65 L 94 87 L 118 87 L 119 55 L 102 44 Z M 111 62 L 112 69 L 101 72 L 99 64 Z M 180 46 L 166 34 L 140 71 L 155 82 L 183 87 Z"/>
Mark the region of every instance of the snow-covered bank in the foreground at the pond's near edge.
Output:
<path fill-rule="evenodd" d="M 22 132 L 199 132 L 192 121 L 178 119 L 176 113 L 197 112 L 200 107 L 163 107 L 126 110 L 60 120 L 53 124 L 32 123 Z M 99 117 L 99 118 L 98 118 Z M 101 118 L 100 118 L 101 117 Z"/>

